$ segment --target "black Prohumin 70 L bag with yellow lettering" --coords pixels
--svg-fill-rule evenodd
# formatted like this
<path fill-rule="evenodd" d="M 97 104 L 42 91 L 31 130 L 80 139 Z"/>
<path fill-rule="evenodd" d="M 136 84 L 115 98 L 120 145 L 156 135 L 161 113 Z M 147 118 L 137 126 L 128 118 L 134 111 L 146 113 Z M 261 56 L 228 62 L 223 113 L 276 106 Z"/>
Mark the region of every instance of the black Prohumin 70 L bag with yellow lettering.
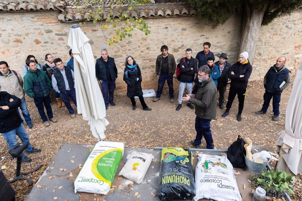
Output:
<path fill-rule="evenodd" d="M 157 196 L 162 201 L 195 196 L 192 152 L 189 149 L 162 149 Z"/>

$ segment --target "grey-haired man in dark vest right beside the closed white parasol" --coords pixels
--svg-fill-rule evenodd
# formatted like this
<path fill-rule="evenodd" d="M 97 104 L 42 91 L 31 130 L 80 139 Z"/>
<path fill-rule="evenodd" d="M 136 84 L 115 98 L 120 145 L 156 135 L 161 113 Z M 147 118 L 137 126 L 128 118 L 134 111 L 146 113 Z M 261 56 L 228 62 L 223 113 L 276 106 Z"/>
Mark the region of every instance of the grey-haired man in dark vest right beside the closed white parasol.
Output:
<path fill-rule="evenodd" d="M 108 56 L 107 49 L 101 50 L 101 57 L 95 63 L 95 75 L 101 83 L 101 91 L 103 94 L 106 110 L 108 104 L 116 106 L 113 102 L 115 80 L 117 78 L 117 68 L 114 58 Z M 109 97 L 108 97 L 109 93 Z"/>

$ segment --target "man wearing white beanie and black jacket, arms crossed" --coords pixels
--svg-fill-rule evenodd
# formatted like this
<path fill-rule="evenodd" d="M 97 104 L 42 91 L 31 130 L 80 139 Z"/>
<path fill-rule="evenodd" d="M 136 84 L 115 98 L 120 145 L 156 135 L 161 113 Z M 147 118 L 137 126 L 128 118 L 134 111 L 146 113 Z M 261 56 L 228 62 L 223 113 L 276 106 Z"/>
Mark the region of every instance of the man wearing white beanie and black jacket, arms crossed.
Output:
<path fill-rule="evenodd" d="M 237 120 L 241 121 L 241 113 L 243 110 L 244 99 L 246 96 L 246 88 L 249 80 L 249 76 L 252 73 L 252 65 L 249 63 L 249 53 L 243 52 L 239 55 L 238 62 L 233 64 L 229 71 L 229 78 L 231 79 L 231 87 L 228 96 L 228 101 L 226 103 L 226 111 L 223 113 L 222 117 L 226 117 L 232 107 L 234 98 L 238 97 L 239 106 L 237 113 Z"/>

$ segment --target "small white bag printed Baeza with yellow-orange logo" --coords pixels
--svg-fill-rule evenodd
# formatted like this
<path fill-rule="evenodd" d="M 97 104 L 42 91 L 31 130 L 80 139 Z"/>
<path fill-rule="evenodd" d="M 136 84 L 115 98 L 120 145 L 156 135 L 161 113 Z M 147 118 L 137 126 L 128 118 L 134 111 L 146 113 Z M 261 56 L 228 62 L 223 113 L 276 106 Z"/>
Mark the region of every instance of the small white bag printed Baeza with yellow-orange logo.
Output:
<path fill-rule="evenodd" d="M 122 175 L 136 183 L 141 183 L 153 158 L 152 154 L 132 152 L 127 156 L 128 161 L 118 175 Z"/>

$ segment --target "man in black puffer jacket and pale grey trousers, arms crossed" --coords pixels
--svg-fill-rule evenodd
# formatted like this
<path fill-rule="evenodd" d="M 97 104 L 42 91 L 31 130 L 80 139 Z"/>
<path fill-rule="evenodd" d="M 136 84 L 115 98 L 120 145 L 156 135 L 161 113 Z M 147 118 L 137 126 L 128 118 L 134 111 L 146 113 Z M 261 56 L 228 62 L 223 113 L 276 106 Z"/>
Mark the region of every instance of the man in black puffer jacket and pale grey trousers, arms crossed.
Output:
<path fill-rule="evenodd" d="M 178 106 L 176 107 L 177 111 L 182 108 L 182 96 L 184 94 L 186 86 L 188 94 L 192 94 L 194 75 L 197 72 L 197 60 L 192 58 L 192 49 L 186 49 L 186 57 L 185 59 L 180 59 L 179 69 L 181 75 L 179 79 L 180 83 L 178 94 Z M 187 106 L 194 110 L 194 107 L 190 102 L 187 103 Z"/>

